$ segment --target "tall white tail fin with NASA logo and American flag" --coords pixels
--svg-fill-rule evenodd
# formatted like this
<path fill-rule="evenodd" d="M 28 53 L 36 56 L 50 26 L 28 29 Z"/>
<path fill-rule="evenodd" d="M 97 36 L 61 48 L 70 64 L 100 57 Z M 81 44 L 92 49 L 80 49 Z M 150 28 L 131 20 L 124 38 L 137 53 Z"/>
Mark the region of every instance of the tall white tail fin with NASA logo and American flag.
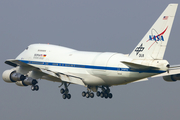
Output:
<path fill-rule="evenodd" d="M 163 59 L 178 4 L 169 4 L 129 57 Z"/>

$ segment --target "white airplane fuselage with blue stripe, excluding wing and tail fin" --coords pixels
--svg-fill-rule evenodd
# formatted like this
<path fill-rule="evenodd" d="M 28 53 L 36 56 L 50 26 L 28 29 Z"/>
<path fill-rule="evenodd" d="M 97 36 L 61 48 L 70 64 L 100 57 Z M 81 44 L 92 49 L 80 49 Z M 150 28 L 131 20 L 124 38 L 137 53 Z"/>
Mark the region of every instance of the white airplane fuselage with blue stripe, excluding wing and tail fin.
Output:
<path fill-rule="evenodd" d="M 94 86 L 127 84 L 162 73 L 132 71 L 121 63 L 133 61 L 124 54 L 77 51 L 49 44 L 30 45 L 16 59 L 39 68 L 76 75 L 83 78 L 85 84 Z"/>

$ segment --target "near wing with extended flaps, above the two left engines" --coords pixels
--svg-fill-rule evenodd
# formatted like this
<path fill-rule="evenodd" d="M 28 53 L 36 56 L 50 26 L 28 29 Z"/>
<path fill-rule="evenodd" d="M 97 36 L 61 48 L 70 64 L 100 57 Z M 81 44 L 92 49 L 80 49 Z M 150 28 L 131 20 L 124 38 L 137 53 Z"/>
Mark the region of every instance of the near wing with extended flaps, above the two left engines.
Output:
<path fill-rule="evenodd" d="M 81 77 L 78 77 L 68 72 L 65 73 L 64 71 L 61 72 L 61 71 L 42 69 L 15 59 L 6 60 L 5 63 L 13 67 L 20 66 L 28 69 L 29 71 L 35 72 L 36 79 L 47 78 L 48 80 L 52 79 L 51 81 L 68 82 L 68 83 L 85 86 L 83 79 Z"/>

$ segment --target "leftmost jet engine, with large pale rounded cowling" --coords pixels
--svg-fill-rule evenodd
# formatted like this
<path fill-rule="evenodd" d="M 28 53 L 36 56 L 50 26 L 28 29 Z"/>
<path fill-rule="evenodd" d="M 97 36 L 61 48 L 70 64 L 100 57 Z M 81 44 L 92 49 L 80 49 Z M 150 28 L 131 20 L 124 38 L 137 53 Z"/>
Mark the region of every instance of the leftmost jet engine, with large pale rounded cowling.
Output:
<path fill-rule="evenodd" d="M 26 76 L 24 76 L 20 73 L 16 73 L 15 70 L 11 69 L 11 70 L 5 70 L 3 72 L 2 79 L 5 82 L 12 83 L 12 82 L 16 82 L 16 81 L 23 81 L 24 79 L 26 79 Z"/>

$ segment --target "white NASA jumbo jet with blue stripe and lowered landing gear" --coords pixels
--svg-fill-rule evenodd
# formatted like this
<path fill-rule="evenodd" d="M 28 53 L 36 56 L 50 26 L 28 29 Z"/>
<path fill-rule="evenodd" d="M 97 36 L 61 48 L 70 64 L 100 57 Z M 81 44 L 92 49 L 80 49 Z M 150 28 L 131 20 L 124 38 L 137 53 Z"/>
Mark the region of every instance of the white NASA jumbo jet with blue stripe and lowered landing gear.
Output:
<path fill-rule="evenodd" d="M 110 87 L 146 81 L 162 76 L 165 81 L 180 80 L 180 65 L 170 65 L 163 59 L 178 4 L 169 4 L 145 34 L 131 54 L 88 52 L 52 45 L 31 44 L 6 64 L 5 82 L 31 86 L 38 91 L 39 79 L 60 82 L 63 99 L 70 99 L 70 84 L 82 85 L 82 96 L 113 97 Z"/>

